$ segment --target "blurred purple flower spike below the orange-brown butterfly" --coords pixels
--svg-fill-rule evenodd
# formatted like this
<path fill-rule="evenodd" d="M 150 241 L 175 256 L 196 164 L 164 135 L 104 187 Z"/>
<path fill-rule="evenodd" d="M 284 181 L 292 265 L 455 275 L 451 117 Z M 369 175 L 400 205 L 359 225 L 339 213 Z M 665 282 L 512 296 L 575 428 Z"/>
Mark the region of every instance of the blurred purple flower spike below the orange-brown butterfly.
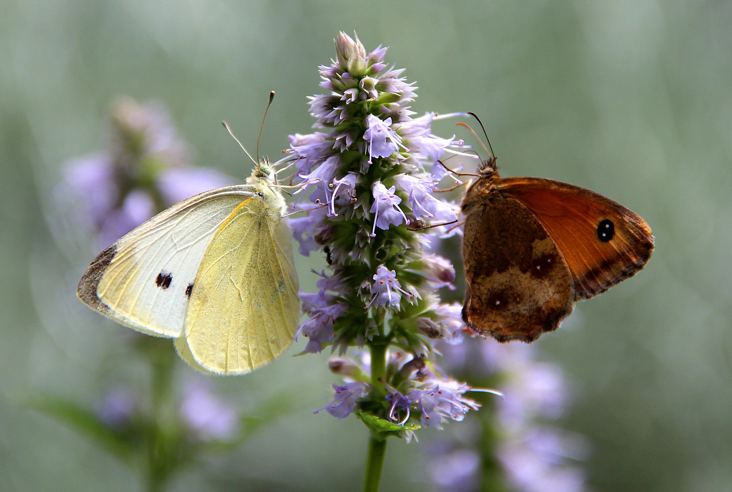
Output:
<path fill-rule="evenodd" d="M 511 490 L 584 490 L 584 474 L 578 460 L 586 458 L 589 445 L 581 436 L 548 425 L 561 416 L 567 403 L 567 384 L 558 367 L 537 361 L 531 345 L 501 344 L 491 339 L 446 345 L 441 350 L 443 364 L 452 370 L 462 367 L 485 378 L 504 381 L 499 387 L 505 394 L 504 400 L 498 403 L 496 416 L 492 416 L 501 438 L 496 447 L 475 451 L 488 452 L 499 459 Z M 460 449 L 472 451 L 469 444 Z M 478 480 L 474 477 L 474 483 Z M 455 489 L 445 486 L 442 490 Z"/>

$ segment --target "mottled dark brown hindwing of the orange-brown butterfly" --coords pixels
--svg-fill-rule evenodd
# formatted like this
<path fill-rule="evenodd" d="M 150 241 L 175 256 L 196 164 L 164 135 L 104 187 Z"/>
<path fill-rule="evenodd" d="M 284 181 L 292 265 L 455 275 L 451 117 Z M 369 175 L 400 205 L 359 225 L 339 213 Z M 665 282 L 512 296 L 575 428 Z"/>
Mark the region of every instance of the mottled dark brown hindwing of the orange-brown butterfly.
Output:
<path fill-rule="evenodd" d="M 463 320 L 501 342 L 531 342 L 572 312 L 572 279 L 534 215 L 514 199 L 493 196 L 466 210 Z"/>

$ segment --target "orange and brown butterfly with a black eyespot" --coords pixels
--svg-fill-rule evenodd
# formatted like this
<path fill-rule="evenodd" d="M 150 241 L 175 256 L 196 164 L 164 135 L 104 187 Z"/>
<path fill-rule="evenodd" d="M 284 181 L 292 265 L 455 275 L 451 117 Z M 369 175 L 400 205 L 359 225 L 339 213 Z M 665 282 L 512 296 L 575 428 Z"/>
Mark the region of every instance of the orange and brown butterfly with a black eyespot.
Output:
<path fill-rule="evenodd" d="M 556 330 L 576 301 L 638 273 L 654 239 L 638 214 L 599 193 L 539 177 L 500 177 L 492 150 L 460 205 L 463 320 L 484 337 L 533 342 Z"/>

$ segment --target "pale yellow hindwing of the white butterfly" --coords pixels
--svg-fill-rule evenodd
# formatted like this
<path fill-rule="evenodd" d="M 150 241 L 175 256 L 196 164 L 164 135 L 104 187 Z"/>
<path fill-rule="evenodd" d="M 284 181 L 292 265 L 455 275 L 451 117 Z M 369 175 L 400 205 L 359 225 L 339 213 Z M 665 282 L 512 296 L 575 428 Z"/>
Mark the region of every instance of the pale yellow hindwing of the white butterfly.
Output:
<path fill-rule="evenodd" d="M 290 238 L 279 211 L 258 197 L 228 216 L 193 284 L 185 320 L 189 350 L 179 347 L 184 359 L 190 355 L 209 372 L 244 374 L 290 345 L 299 316 Z"/>

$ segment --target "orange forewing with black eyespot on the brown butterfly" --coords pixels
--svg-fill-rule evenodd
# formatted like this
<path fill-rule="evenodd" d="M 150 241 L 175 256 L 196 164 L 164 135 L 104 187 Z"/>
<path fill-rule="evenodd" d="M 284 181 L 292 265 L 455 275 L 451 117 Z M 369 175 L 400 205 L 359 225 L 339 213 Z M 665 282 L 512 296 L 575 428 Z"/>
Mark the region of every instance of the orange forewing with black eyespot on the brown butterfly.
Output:
<path fill-rule="evenodd" d="M 653 251 L 646 221 L 599 193 L 538 177 L 507 177 L 498 190 L 534 213 L 567 262 L 575 300 L 635 275 Z"/>

